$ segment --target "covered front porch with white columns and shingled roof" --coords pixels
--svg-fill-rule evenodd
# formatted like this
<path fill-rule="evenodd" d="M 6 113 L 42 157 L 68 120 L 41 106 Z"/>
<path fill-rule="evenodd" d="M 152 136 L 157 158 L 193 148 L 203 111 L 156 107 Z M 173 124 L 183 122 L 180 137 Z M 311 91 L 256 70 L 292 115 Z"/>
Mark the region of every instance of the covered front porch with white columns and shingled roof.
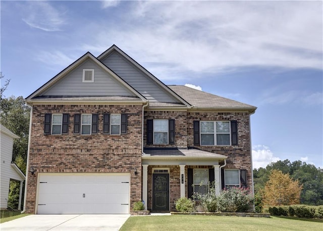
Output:
<path fill-rule="evenodd" d="M 142 200 L 152 212 L 176 211 L 175 201 L 207 190 L 214 181 L 221 192 L 226 156 L 199 149 L 147 149 L 142 156 Z"/>

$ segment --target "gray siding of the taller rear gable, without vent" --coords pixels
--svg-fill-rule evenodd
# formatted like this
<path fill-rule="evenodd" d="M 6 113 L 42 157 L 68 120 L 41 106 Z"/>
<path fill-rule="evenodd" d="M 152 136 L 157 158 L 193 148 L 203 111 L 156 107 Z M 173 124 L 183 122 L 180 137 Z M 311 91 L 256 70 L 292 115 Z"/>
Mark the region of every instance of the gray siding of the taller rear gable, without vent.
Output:
<path fill-rule="evenodd" d="M 118 52 L 111 52 L 101 62 L 117 73 L 149 102 L 180 103 Z"/>

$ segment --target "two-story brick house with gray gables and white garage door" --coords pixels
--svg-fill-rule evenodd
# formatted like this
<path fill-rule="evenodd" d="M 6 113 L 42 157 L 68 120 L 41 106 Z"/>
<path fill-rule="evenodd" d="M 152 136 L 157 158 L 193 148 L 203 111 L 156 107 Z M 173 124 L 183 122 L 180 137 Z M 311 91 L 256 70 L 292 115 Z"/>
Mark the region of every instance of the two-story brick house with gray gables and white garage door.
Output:
<path fill-rule="evenodd" d="M 87 52 L 26 98 L 32 106 L 30 213 L 175 211 L 174 201 L 231 186 L 253 191 L 256 107 L 166 86 L 113 45 Z"/>

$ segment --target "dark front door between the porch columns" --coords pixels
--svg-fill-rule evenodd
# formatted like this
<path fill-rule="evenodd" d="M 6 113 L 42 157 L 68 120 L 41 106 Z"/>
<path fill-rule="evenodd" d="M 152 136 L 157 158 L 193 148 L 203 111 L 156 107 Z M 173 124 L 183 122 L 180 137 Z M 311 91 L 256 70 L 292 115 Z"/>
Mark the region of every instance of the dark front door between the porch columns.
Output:
<path fill-rule="evenodd" d="M 169 174 L 152 174 L 152 210 L 169 211 Z"/>

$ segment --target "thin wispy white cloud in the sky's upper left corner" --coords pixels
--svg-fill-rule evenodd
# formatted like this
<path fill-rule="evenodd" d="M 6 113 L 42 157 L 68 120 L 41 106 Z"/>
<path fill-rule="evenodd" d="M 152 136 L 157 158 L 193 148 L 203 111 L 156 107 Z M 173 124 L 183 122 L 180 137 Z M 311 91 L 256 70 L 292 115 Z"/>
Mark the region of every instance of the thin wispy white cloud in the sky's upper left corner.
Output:
<path fill-rule="evenodd" d="M 29 1 L 23 5 L 25 16 L 22 20 L 33 28 L 43 31 L 61 31 L 65 25 L 65 10 L 56 9 L 45 1 Z"/>

